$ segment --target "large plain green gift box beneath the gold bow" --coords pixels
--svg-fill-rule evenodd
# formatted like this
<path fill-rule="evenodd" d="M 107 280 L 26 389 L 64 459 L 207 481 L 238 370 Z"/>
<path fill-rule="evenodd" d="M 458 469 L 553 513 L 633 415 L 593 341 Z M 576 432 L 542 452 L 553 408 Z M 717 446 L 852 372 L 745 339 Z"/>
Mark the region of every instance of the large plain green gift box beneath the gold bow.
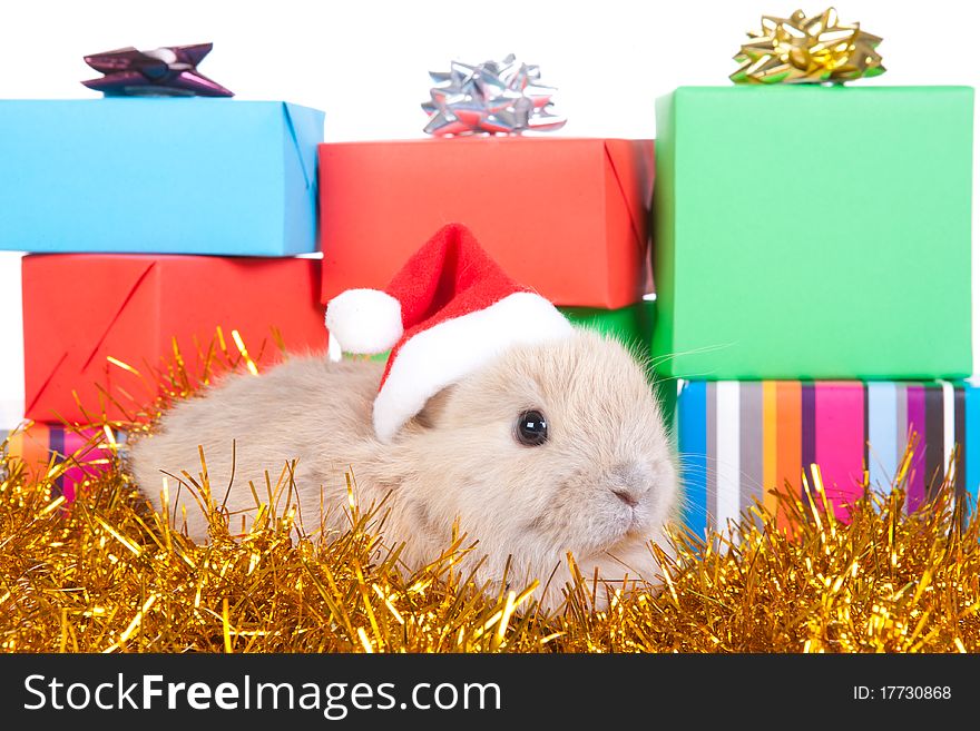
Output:
<path fill-rule="evenodd" d="M 657 101 L 658 371 L 972 373 L 969 87 L 683 87 Z"/>

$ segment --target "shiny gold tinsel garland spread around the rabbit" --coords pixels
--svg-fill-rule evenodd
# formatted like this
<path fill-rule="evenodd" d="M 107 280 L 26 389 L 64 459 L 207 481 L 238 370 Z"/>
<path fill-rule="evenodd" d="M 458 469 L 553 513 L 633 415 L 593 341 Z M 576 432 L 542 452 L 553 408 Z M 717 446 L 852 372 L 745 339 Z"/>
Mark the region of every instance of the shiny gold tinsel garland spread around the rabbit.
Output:
<path fill-rule="evenodd" d="M 238 350 L 225 365 L 254 372 Z M 175 355 L 157 408 L 195 387 Z M 207 383 L 215 359 L 204 363 Z M 70 466 L 32 475 L 0 456 L 3 651 L 980 651 L 980 520 L 949 478 L 913 515 L 903 473 L 888 496 L 860 501 L 849 525 L 817 487 L 806 502 L 784 498 L 792 534 L 761 506 L 707 540 L 676 532 L 676 559 L 656 552 L 661 587 L 595 611 L 595 581 L 579 576 L 566 606 L 546 614 L 529 590 L 482 594 L 459 569 L 478 550 L 465 536 L 406 575 L 376 534 L 381 516 L 353 500 L 346 532 L 305 535 L 280 485 L 285 498 L 270 500 L 244 537 L 214 512 L 210 543 L 196 545 L 147 507 L 118 454 L 67 505 L 55 484 Z"/>

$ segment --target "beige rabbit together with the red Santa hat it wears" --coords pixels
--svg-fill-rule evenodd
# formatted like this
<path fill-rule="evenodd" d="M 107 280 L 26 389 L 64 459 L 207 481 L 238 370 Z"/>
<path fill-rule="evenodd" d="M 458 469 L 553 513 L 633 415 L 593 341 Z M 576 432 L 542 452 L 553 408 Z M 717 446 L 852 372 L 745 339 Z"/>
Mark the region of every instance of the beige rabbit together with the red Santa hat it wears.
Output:
<path fill-rule="evenodd" d="M 618 342 L 571 327 L 459 225 L 386 292 L 332 299 L 326 324 L 334 356 L 391 348 L 386 369 L 303 357 L 180 403 L 131 451 L 157 508 L 161 471 L 189 471 L 202 446 L 216 498 L 231 484 L 235 520 L 256 508 L 249 481 L 263 494 L 265 472 L 275 481 L 295 460 L 307 530 L 323 515 L 344 527 L 351 472 L 361 506 L 384 502 L 384 537 L 405 543 L 410 569 L 435 557 L 458 521 L 479 541 L 467 559 L 482 559 L 478 580 L 537 579 L 546 605 L 570 577 L 568 553 L 586 576 L 656 577 L 648 544 L 666 547 L 675 460 L 645 373 Z M 187 491 L 180 500 L 189 535 L 205 540 L 205 516 Z"/>

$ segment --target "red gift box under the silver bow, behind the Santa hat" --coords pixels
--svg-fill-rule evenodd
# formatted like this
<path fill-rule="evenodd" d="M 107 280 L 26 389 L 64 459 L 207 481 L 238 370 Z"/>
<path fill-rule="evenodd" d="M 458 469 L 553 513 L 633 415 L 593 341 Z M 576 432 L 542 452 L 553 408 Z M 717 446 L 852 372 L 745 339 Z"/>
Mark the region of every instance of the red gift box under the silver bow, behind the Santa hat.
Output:
<path fill-rule="evenodd" d="M 649 289 L 651 140 L 484 137 L 320 146 L 323 302 L 383 288 L 448 223 L 557 305 Z"/>

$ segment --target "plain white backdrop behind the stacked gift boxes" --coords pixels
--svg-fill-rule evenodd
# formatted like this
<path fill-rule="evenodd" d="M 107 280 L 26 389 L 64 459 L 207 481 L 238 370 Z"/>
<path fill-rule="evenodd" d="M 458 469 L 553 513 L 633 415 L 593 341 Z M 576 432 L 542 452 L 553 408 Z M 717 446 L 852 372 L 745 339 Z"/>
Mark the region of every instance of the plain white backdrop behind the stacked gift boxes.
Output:
<path fill-rule="evenodd" d="M 682 85 L 727 86 L 745 31 L 763 13 L 795 8 L 796 0 L 6 2 L 0 98 L 97 97 L 79 83 L 99 76 L 81 60 L 86 53 L 213 41 L 200 71 L 239 99 L 323 109 L 329 141 L 411 138 L 423 136 L 419 105 L 429 97 L 430 69 L 514 52 L 559 88 L 555 111 L 569 118 L 560 135 L 648 138 L 657 96 Z M 859 83 L 980 86 L 978 3 L 851 0 L 837 10 L 884 39 L 888 72 Z M 974 190 L 977 169 L 974 156 Z M 974 253 L 974 281 L 977 260 Z M 0 428 L 23 408 L 19 274 L 19 255 L 0 253 Z"/>

